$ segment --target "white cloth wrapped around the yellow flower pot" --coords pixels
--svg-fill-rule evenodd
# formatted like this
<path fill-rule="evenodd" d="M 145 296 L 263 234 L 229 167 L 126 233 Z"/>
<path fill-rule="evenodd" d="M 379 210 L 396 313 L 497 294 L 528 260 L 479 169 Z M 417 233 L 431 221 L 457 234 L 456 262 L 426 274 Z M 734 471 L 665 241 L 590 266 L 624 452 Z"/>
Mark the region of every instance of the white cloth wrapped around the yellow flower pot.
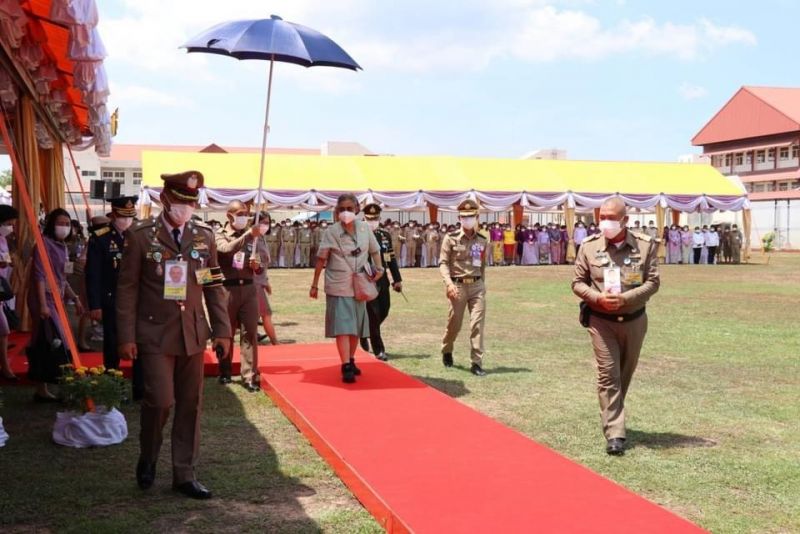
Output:
<path fill-rule="evenodd" d="M 105 447 L 122 443 L 127 437 L 125 416 L 116 408 L 110 412 L 98 408 L 82 415 L 58 412 L 53 425 L 53 441 L 67 447 Z"/>

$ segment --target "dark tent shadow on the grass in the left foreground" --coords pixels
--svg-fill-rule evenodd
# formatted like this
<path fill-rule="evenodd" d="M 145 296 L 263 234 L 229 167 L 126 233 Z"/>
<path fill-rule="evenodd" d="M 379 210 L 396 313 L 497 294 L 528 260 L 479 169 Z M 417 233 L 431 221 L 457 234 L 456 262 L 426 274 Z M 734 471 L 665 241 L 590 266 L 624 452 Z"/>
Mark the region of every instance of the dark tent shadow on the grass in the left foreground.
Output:
<path fill-rule="evenodd" d="M 258 407 L 246 413 L 230 389 L 213 379 L 205 386 L 197 477 L 214 498 L 204 502 L 171 490 L 171 418 L 156 482 L 141 491 L 134 476 L 138 405 L 123 407 L 129 426 L 123 443 L 71 449 L 50 439 L 55 413 L 63 407 L 34 405 L 29 388 L 4 387 L 3 416 L 11 440 L 0 454 L 0 531 L 236 532 L 234 525 L 247 525 L 258 532 L 320 532 L 299 500 L 313 500 L 315 491 L 281 472 L 275 450 L 250 422 L 254 414 L 259 417 Z M 258 401 L 248 397 L 245 402 Z"/>

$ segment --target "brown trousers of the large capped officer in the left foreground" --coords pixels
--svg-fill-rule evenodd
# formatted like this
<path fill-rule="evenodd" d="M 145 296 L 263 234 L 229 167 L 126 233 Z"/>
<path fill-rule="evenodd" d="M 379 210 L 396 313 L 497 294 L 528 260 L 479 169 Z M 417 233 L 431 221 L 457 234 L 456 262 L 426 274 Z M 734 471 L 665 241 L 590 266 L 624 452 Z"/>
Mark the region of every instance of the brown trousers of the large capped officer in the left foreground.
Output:
<path fill-rule="evenodd" d="M 176 356 L 143 352 L 139 358 L 144 382 L 139 433 L 142 459 L 150 463 L 158 461 L 164 425 L 174 404 L 172 480 L 176 484 L 190 482 L 195 479 L 200 456 L 203 353 Z"/>

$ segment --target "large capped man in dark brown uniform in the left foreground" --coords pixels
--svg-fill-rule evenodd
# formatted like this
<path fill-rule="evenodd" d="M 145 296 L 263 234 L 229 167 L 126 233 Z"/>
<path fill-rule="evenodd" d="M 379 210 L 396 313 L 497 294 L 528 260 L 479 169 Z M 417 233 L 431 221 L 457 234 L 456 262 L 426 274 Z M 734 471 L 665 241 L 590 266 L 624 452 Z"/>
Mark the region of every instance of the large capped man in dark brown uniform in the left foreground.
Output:
<path fill-rule="evenodd" d="M 213 336 L 217 353 L 227 356 L 231 326 L 214 235 L 191 220 L 203 175 L 188 171 L 161 178 L 164 209 L 125 233 L 117 282 L 120 357 L 141 360 L 144 382 L 136 481 L 142 489 L 153 485 L 162 431 L 174 404 L 173 489 L 208 499 L 211 492 L 195 478 L 203 353 Z M 165 287 L 165 273 L 176 266 L 187 275 L 183 288 Z"/>

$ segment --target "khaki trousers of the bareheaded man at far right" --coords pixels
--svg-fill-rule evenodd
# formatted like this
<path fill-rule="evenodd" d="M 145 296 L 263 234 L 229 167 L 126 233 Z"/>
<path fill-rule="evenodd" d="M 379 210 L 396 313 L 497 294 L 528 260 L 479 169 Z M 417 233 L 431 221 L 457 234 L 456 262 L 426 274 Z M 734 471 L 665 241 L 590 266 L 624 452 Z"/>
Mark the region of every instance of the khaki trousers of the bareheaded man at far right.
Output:
<path fill-rule="evenodd" d="M 597 397 L 606 439 L 625 438 L 625 396 L 639 363 L 647 314 L 627 323 L 592 316 L 589 336 L 597 369 Z"/>

